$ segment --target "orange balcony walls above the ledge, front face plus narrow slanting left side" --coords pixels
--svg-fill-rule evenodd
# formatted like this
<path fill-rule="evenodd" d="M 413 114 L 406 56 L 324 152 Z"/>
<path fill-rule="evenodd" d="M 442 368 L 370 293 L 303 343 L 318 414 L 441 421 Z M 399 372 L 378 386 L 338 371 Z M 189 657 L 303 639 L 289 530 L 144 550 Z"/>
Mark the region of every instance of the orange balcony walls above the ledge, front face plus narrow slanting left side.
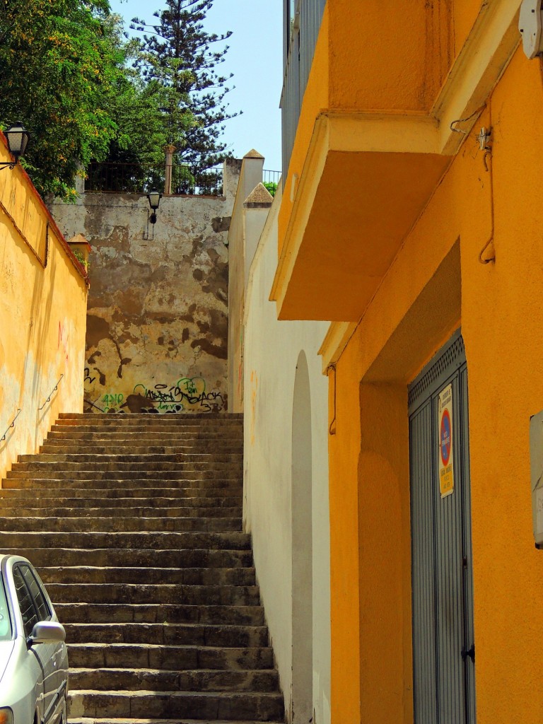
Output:
<path fill-rule="evenodd" d="M 327 1 L 290 164 L 284 169 L 279 253 L 319 114 L 428 111 L 453 56 L 449 0 L 410 1 L 400 6 L 394 0 Z M 306 171 L 311 173 L 311 169 Z"/>

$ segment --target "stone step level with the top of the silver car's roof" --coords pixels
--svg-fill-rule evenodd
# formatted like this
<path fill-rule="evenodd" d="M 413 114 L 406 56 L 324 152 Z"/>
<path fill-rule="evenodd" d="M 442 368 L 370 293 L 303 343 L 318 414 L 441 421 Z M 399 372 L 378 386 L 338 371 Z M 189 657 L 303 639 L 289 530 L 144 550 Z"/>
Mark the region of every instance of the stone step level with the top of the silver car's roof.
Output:
<path fill-rule="evenodd" d="M 37 539 L 36 542 L 41 542 Z M 20 546 L 17 548 L 2 547 L 3 553 L 12 555 L 25 555 L 38 568 L 50 566 L 77 566 L 77 565 L 111 565 L 117 567 L 127 566 L 138 568 L 148 566 L 149 568 L 251 568 L 253 566 L 253 553 L 247 547 L 240 550 L 215 550 L 195 549 L 126 549 L 126 548 L 96 548 L 77 549 L 73 548 L 41 548 Z M 20 553 L 25 551 L 24 553 Z M 19 552 L 19 553 L 18 553 Z"/>

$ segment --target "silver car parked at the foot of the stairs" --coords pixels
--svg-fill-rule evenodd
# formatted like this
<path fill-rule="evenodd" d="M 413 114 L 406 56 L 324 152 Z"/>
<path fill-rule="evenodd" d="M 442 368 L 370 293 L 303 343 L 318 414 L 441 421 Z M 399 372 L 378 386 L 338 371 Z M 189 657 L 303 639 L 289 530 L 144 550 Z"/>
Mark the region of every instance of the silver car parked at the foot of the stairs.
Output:
<path fill-rule="evenodd" d="M 0 555 L 0 724 L 67 724 L 66 633 L 33 565 Z"/>

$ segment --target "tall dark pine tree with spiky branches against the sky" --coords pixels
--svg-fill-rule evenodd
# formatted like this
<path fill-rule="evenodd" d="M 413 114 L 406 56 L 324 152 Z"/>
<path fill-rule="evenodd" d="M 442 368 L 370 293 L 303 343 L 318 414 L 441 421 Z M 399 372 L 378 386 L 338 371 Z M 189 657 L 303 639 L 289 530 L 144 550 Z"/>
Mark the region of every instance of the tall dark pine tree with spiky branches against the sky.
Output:
<path fill-rule="evenodd" d="M 203 28 L 213 0 L 167 0 L 154 13 L 156 24 L 134 18 L 130 26 L 145 33 L 136 64 L 148 83 L 164 88 L 167 132 L 183 164 L 193 169 L 216 165 L 230 154 L 221 140 L 224 122 L 237 113 L 227 109 L 230 75 L 216 67 L 224 62 L 232 32 L 207 33 Z M 186 125 L 187 111 L 193 122 Z"/>

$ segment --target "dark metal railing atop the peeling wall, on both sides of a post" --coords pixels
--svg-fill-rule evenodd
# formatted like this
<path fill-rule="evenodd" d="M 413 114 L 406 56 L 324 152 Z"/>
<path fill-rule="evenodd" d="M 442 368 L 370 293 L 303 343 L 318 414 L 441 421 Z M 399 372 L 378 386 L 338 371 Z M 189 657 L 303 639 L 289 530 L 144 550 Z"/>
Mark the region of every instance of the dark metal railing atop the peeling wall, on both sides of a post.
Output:
<path fill-rule="evenodd" d="M 164 188 L 164 167 L 142 164 L 92 163 L 87 167 L 85 193 L 148 193 Z M 222 167 L 196 169 L 174 161 L 172 193 L 222 196 Z"/>

